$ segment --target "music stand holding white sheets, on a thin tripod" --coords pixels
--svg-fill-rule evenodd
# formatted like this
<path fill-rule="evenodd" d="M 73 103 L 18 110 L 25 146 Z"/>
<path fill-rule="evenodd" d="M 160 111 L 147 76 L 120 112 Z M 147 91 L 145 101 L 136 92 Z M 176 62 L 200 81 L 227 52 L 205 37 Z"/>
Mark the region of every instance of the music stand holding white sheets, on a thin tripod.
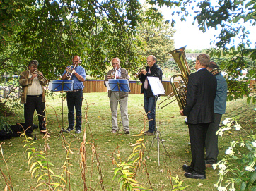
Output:
<path fill-rule="evenodd" d="M 161 142 L 161 144 L 163 145 L 163 148 L 165 149 L 165 152 L 167 153 L 167 155 L 169 156 L 165 145 L 163 144 L 162 141 L 162 137 L 161 137 L 161 133 L 159 130 L 159 97 L 158 95 L 165 95 L 165 90 L 163 88 L 162 82 L 159 80 L 158 77 L 153 77 L 153 76 L 148 76 L 148 81 L 149 81 L 149 85 L 151 87 L 151 90 L 153 92 L 153 96 L 156 97 L 157 99 L 157 103 L 158 103 L 158 110 L 157 110 L 157 123 L 158 125 L 156 126 L 156 133 L 153 135 L 153 140 L 151 141 L 151 144 L 149 146 L 149 152 L 151 151 L 152 147 L 153 147 L 153 143 L 157 140 L 157 148 L 158 148 L 158 166 L 160 166 L 160 147 L 159 147 L 159 142 Z M 149 152 L 146 154 L 146 156 L 149 154 Z M 169 156 L 170 158 L 170 156 Z"/>

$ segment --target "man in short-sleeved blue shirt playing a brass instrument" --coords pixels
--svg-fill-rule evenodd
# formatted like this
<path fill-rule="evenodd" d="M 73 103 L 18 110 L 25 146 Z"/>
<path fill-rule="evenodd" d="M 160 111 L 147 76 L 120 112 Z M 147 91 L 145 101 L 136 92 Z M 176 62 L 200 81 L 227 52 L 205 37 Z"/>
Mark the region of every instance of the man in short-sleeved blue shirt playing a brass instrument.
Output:
<path fill-rule="evenodd" d="M 62 79 L 66 80 L 71 78 L 74 80 L 73 91 L 69 91 L 66 94 L 67 106 L 69 109 L 69 127 L 66 129 L 67 131 L 73 130 L 75 124 L 74 118 L 74 108 L 76 108 L 76 133 L 81 133 L 81 125 L 82 125 L 82 102 L 83 102 L 83 82 L 86 80 L 86 72 L 82 66 L 79 66 L 80 57 L 74 56 L 73 58 L 73 66 L 67 66 L 66 70 L 62 74 Z M 71 69 L 73 68 L 73 69 Z M 71 73 L 69 70 L 71 69 Z M 68 74 L 68 75 L 66 75 Z"/>

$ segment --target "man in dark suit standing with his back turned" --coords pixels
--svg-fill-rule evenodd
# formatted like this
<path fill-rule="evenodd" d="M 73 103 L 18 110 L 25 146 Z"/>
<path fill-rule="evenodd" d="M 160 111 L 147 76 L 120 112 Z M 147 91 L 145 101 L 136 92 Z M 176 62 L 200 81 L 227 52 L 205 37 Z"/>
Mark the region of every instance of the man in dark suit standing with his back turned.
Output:
<path fill-rule="evenodd" d="M 180 111 L 187 116 L 190 134 L 192 162 L 182 166 L 187 178 L 205 179 L 204 142 L 211 122 L 214 122 L 214 99 L 217 81 L 206 69 L 209 66 L 208 54 L 199 54 L 195 68 L 188 78 L 185 108 Z"/>

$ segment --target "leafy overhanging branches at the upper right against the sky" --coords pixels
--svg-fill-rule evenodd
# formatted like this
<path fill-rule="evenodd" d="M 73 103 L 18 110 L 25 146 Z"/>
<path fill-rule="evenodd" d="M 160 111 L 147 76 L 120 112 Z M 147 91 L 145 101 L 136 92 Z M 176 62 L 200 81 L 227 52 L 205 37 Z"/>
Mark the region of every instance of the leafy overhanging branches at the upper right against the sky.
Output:
<path fill-rule="evenodd" d="M 228 69 L 228 76 L 238 75 L 241 70 L 248 67 L 248 60 L 255 61 L 256 49 L 249 48 L 250 39 L 248 39 L 248 30 L 245 23 L 250 26 L 256 24 L 256 2 L 248 0 L 216 0 L 216 1 L 192 1 L 192 0 L 150 0 L 149 4 L 158 7 L 168 6 L 173 9 L 173 15 L 178 14 L 180 20 L 185 21 L 187 16 L 195 14 L 194 23 L 197 21 L 199 30 L 205 32 L 209 27 L 221 27 L 221 32 L 216 36 L 214 44 L 216 50 L 209 50 L 211 56 L 226 56 L 231 58 L 229 61 L 221 63 L 222 69 Z M 178 9 L 177 9 L 178 8 Z M 243 23 L 241 25 L 240 23 Z M 172 20 L 175 25 L 175 20 Z M 240 40 L 239 45 L 232 46 L 235 38 Z M 228 45 L 232 47 L 228 49 Z M 246 59 L 248 56 L 249 59 Z M 246 95 L 248 101 L 256 102 L 255 93 L 250 92 L 248 83 L 250 79 L 256 77 L 255 64 L 248 73 L 249 80 L 247 82 L 239 82 L 238 80 L 228 80 L 228 90 L 230 92 L 229 99 L 243 97 Z M 243 86 L 243 90 L 240 86 Z"/>

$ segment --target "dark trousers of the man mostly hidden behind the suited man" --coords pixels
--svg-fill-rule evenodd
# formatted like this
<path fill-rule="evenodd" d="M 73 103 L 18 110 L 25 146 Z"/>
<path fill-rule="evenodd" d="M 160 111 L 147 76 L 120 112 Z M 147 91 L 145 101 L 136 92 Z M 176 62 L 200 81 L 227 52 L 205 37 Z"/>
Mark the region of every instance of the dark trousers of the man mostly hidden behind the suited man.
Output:
<path fill-rule="evenodd" d="M 205 146 L 206 146 L 206 164 L 214 164 L 217 162 L 217 156 L 219 154 L 218 149 L 218 135 L 216 131 L 219 130 L 219 123 L 221 122 L 221 114 L 214 113 L 214 123 L 209 125 Z"/>

